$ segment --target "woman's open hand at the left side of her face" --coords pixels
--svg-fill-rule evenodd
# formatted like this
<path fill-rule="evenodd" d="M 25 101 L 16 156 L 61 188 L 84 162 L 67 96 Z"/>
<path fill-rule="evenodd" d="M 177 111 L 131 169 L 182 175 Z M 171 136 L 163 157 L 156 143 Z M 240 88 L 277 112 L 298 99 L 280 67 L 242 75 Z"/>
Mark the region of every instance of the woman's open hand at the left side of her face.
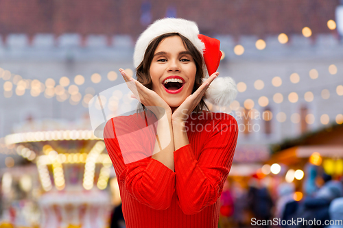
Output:
<path fill-rule="evenodd" d="M 134 95 L 131 97 L 143 103 L 147 109 L 154 112 L 156 117 L 160 119 L 165 113 L 171 116 L 171 108 L 154 90 L 150 90 L 143 86 L 139 81 L 128 75 L 122 68 L 119 69 L 126 85 Z M 162 108 L 161 108 L 162 107 Z"/>

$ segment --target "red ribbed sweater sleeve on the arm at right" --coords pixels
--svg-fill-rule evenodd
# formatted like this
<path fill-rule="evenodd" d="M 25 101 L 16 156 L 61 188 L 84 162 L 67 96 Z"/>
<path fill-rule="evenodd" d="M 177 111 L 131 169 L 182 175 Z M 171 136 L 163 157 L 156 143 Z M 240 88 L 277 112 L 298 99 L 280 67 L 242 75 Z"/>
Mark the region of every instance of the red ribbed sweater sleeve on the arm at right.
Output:
<path fill-rule="evenodd" d="M 237 144 L 235 118 L 213 123 L 211 133 L 200 132 L 204 140 L 198 161 L 191 144 L 174 151 L 178 205 L 185 214 L 196 214 L 213 205 L 222 194 Z"/>

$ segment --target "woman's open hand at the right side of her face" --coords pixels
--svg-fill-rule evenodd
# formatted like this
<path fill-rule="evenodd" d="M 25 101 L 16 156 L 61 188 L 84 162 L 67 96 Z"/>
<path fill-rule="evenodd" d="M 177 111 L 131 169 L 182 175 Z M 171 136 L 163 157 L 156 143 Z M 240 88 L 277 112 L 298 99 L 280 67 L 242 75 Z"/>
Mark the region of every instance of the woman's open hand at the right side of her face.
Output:
<path fill-rule="evenodd" d="M 218 72 L 215 72 L 204 81 L 204 83 L 194 92 L 193 94 L 189 95 L 183 103 L 174 110 L 173 114 L 171 115 L 171 123 L 174 124 L 183 124 L 185 121 L 187 121 L 187 118 L 191 114 L 191 112 L 194 110 L 194 108 L 198 105 L 198 103 L 201 101 L 202 97 L 204 97 L 204 94 L 209 88 L 209 85 L 211 82 L 219 75 Z"/>

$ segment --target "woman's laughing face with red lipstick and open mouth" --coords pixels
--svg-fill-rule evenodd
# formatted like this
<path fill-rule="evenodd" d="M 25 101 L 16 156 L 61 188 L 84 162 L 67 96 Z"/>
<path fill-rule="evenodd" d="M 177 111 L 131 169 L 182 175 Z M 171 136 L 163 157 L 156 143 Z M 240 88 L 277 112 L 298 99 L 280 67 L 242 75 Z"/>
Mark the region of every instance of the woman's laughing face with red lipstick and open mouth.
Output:
<path fill-rule="evenodd" d="M 180 36 L 162 40 L 150 65 L 152 90 L 174 111 L 191 94 L 196 79 L 196 62 Z"/>

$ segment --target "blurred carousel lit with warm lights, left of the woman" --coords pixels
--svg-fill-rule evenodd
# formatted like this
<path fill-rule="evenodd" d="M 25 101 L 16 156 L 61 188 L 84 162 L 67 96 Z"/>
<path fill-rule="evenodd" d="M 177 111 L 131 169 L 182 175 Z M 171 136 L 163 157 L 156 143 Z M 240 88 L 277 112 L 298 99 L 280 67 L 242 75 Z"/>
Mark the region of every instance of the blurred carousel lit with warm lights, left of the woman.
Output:
<path fill-rule="evenodd" d="M 35 167 L 35 173 L 26 175 L 31 173 L 31 199 L 39 211 L 38 224 L 32 222 L 25 227 L 107 227 L 113 207 L 107 187 L 115 173 L 104 141 L 84 129 L 88 123 L 86 118 L 78 123 L 30 120 L 15 126 L 15 133 L 5 137 L 5 144 Z M 17 172 L 19 176 L 25 174 L 25 168 L 22 170 Z M 8 178 L 11 173 L 5 175 Z M 35 176 L 39 180 L 36 188 L 32 181 Z M 4 200 L 11 201 L 14 195 L 8 194 Z M 16 215 L 21 209 L 13 203 L 3 208 L 8 223 L 18 225 L 21 218 Z"/>

